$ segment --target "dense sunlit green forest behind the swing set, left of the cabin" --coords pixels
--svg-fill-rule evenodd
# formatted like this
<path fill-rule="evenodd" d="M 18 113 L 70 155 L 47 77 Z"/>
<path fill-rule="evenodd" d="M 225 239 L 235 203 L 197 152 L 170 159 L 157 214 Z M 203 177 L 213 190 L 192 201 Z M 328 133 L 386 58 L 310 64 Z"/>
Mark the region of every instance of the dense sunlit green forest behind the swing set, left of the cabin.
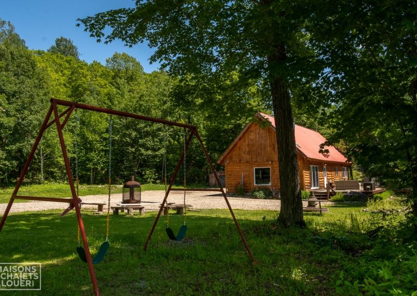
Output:
<path fill-rule="evenodd" d="M 0 27 L 0 184 L 12 185 L 19 177 L 51 97 L 195 125 L 215 162 L 248 119 L 256 111 L 267 108 L 256 84 L 249 85 L 247 90 L 237 90 L 233 88 L 236 77 L 223 79 L 210 91 L 204 90 L 208 87 L 204 83 L 188 85 L 195 93 L 185 96 L 178 79 L 163 71 L 145 73 L 137 60 L 124 53 L 115 53 L 105 65 L 88 64 L 79 59 L 76 45 L 66 38 L 58 38 L 46 52 L 31 51 L 12 24 L 3 21 Z M 183 86 L 187 81 L 181 83 Z M 203 92 L 211 104 L 199 99 Z M 241 105 L 232 97 L 239 97 Z M 90 111 L 76 113 L 64 129 L 73 169 L 77 145 L 80 181 L 106 183 L 110 118 Z M 121 184 L 130 175 L 144 183 L 161 182 L 164 133 L 168 174 L 175 168 L 183 147 L 182 129 L 117 116 L 112 116 L 112 127 L 114 182 Z M 193 143 L 187 155 L 187 179 L 192 183 L 207 183 L 208 166 L 197 144 Z M 29 183 L 66 181 L 55 128 L 49 128 L 43 136 L 26 178 Z"/>

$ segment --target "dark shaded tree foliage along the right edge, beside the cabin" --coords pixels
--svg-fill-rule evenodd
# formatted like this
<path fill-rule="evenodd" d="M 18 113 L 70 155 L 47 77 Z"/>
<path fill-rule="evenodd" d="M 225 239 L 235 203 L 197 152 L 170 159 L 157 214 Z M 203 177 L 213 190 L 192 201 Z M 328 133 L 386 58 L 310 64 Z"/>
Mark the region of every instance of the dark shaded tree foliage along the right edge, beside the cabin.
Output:
<path fill-rule="evenodd" d="M 328 65 L 320 83 L 331 90 L 328 101 L 336 106 L 337 129 L 329 140 L 345 142 L 346 152 L 366 176 L 391 187 L 413 188 L 416 218 L 416 4 L 323 1 L 317 5 L 326 7 L 326 18 L 311 22 L 315 45 Z"/>

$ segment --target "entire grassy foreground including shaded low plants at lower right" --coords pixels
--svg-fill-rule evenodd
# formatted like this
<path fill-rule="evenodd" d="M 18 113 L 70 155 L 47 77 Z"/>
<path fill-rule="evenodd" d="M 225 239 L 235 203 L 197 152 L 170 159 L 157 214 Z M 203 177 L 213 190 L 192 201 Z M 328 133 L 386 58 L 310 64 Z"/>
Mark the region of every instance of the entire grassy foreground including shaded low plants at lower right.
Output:
<path fill-rule="evenodd" d="M 372 214 L 362 212 L 364 206 L 337 204 L 323 216 L 305 213 L 305 229 L 282 228 L 274 211 L 236 210 L 258 260 L 255 266 L 227 210 L 188 212 L 183 242 L 167 238 L 161 217 L 146 252 L 143 246 L 156 213 L 111 215 L 110 249 L 95 265 L 98 285 L 102 295 L 112 296 L 373 295 L 390 294 L 393 288 L 411 295 L 409 287 L 417 278 L 416 244 L 367 236 L 374 225 Z M 9 215 L 0 233 L 0 262 L 41 263 L 42 290 L 1 294 L 93 294 L 88 266 L 76 253 L 76 216 L 59 213 Z M 173 213 L 170 227 L 178 231 L 183 217 Z M 106 215 L 82 215 L 94 254 L 105 239 Z"/>

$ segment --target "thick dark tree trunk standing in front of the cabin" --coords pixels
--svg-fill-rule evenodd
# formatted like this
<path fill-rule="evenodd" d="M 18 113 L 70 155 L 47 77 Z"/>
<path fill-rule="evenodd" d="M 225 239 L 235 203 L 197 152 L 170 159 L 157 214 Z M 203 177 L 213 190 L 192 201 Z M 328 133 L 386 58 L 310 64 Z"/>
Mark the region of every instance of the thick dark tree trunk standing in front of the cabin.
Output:
<path fill-rule="evenodd" d="M 268 56 L 268 66 L 276 68 L 285 58 L 285 46 L 280 45 Z M 278 220 L 287 226 L 305 227 L 291 102 L 282 77 L 271 75 L 271 94 L 280 170 L 281 211 Z"/>

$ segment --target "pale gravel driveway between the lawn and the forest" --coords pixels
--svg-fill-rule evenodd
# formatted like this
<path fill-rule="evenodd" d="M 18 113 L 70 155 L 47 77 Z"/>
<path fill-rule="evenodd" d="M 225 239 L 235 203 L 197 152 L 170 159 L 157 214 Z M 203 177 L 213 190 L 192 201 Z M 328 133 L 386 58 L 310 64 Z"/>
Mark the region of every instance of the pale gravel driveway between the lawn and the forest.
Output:
<path fill-rule="evenodd" d="M 150 190 L 142 193 L 141 204 L 145 206 L 145 211 L 157 211 L 159 205 L 164 199 L 164 191 Z M 183 203 L 184 193 L 182 191 L 171 191 L 168 196 L 168 202 Z M 90 195 L 81 197 L 84 202 L 107 202 L 107 195 Z M 280 201 L 271 199 L 252 199 L 242 197 L 228 197 L 233 209 L 241 210 L 279 210 Z M 111 196 L 111 205 L 116 205 L 121 201 L 121 194 Z M 227 208 L 223 196 L 218 191 L 187 191 L 186 203 L 193 205 L 193 210 L 203 210 L 207 208 Z M 0 213 L 4 213 L 7 204 L 0 204 Z M 66 203 L 30 201 L 15 202 L 11 207 L 10 213 L 26 211 L 43 211 L 52 209 L 64 209 L 68 206 Z M 97 206 L 83 205 L 83 208 L 95 208 Z M 107 208 L 107 206 L 105 206 Z"/>

